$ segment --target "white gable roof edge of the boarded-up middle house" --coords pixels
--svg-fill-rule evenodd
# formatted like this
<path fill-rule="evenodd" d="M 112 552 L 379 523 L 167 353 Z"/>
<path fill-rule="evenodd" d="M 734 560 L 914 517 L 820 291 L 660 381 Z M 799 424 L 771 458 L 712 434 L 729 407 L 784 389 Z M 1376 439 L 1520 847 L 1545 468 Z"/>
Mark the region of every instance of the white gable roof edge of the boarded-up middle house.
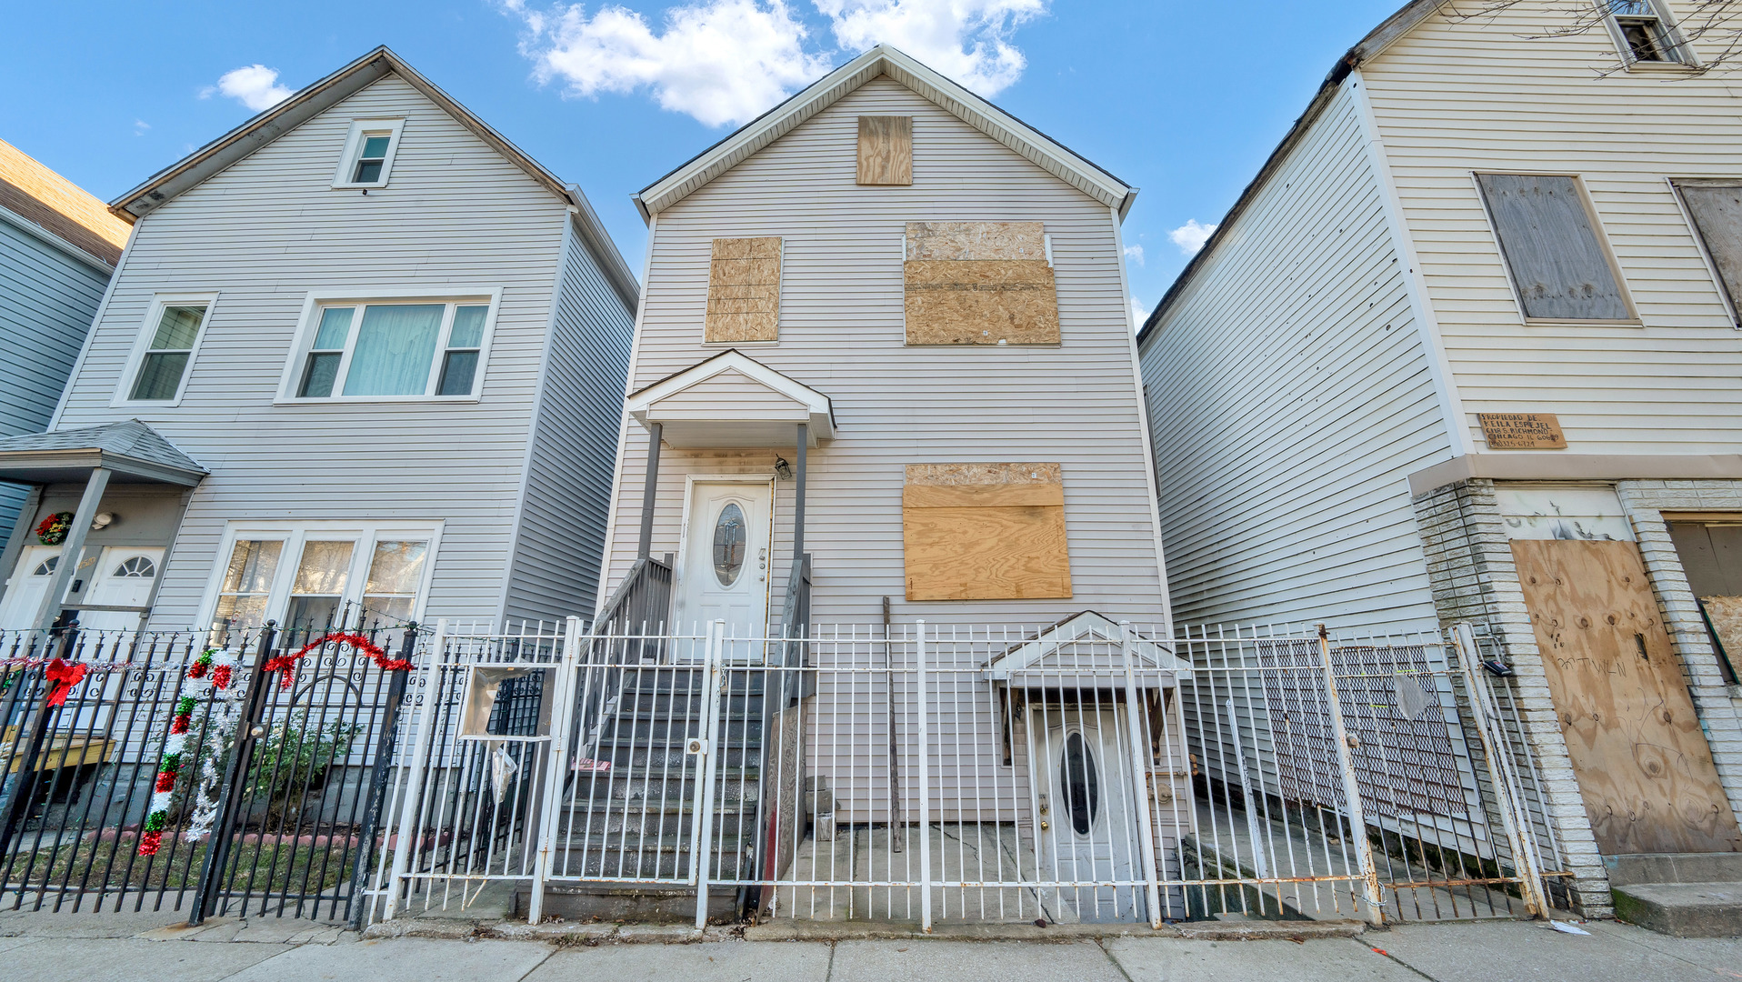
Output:
<path fill-rule="evenodd" d="M 1024 124 L 986 99 L 944 78 L 909 54 L 880 44 L 847 64 L 812 82 L 787 101 L 756 117 L 737 132 L 692 157 L 686 164 L 653 181 L 634 195 L 641 218 L 665 211 L 702 185 L 725 174 L 744 158 L 791 132 L 798 124 L 838 103 L 880 75 L 888 75 L 920 96 L 937 103 L 965 124 L 1021 153 L 1043 171 L 1075 186 L 1125 218 L 1138 188 L 1078 157 L 1050 136 Z"/>

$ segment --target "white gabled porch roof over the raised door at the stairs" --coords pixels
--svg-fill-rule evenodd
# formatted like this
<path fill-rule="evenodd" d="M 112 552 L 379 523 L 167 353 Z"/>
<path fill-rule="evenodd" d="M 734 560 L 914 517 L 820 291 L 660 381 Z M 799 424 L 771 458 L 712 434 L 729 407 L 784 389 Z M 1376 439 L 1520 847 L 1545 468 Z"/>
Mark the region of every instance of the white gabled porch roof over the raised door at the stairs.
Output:
<path fill-rule="evenodd" d="M 800 423 L 808 446 L 834 439 L 827 395 L 735 348 L 634 392 L 627 409 L 678 449 L 791 447 Z"/>

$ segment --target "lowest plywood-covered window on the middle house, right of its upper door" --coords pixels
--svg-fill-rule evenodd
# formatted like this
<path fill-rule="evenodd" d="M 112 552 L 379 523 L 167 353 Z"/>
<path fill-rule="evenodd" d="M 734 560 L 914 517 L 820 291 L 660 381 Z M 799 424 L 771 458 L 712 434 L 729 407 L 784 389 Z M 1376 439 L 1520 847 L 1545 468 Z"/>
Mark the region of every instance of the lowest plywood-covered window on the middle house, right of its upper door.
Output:
<path fill-rule="evenodd" d="M 909 601 L 1071 595 L 1057 463 L 911 463 L 901 515 Z"/>

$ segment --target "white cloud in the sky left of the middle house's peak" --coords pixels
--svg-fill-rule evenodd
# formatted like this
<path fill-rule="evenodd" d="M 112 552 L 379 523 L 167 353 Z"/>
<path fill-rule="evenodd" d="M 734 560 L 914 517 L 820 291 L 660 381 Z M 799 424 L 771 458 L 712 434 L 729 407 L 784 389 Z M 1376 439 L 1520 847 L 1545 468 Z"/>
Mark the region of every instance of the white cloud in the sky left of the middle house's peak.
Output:
<path fill-rule="evenodd" d="M 521 54 L 542 82 L 561 78 L 570 94 L 648 89 L 660 108 L 707 125 L 739 124 L 829 70 L 807 54 L 805 26 L 782 0 L 700 0 L 665 10 L 655 33 L 641 14 L 582 3 L 535 10 L 503 0 L 526 24 Z"/>

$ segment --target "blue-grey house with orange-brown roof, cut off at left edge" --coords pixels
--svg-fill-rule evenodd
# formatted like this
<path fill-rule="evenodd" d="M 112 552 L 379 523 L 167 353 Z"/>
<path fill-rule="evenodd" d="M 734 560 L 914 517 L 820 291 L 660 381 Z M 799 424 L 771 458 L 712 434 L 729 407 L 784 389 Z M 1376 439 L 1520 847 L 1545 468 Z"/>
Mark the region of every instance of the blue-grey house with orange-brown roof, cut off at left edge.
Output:
<path fill-rule="evenodd" d="M 129 225 L 0 141 L 0 437 L 49 425 Z M 28 493 L 0 482 L 0 550 Z"/>

